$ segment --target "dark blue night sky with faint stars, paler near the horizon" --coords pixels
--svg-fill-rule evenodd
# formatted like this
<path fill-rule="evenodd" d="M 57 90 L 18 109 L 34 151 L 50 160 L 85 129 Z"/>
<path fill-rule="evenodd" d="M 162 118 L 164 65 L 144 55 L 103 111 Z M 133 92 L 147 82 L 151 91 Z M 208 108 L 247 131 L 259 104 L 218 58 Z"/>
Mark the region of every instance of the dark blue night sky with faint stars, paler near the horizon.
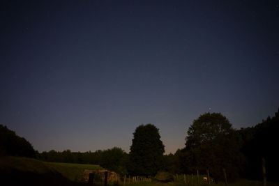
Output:
<path fill-rule="evenodd" d="M 221 112 L 279 107 L 279 1 L 1 1 L 0 123 L 45 150 L 130 151 L 153 123 L 166 153 Z"/>

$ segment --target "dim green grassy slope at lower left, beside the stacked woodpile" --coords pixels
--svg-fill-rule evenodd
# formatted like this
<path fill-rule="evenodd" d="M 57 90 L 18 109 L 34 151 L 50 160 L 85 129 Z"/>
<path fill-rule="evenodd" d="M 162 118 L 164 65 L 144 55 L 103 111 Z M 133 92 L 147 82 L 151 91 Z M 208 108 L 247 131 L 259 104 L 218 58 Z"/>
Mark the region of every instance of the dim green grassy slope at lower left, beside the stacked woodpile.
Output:
<path fill-rule="evenodd" d="M 93 164 L 43 162 L 27 157 L 1 157 L 0 177 L 8 185 L 75 185 L 82 180 L 84 169 L 103 169 Z"/>

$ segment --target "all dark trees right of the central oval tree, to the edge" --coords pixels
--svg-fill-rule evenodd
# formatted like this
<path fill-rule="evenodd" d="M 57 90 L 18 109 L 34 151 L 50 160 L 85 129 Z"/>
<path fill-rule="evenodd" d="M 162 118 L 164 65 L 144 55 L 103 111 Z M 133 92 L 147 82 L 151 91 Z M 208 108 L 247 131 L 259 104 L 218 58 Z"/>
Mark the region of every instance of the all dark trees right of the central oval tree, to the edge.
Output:
<path fill-rule="evenodd" d="M 185 148 L 167 155 L 172 173 L 206 173 L 216 180 L 262 180 L 262 159 L 269 181 L 278 181 L 279 109 L 253 127 L 236 130 L 220 113 L 206 113 L 189 127 Z"/>

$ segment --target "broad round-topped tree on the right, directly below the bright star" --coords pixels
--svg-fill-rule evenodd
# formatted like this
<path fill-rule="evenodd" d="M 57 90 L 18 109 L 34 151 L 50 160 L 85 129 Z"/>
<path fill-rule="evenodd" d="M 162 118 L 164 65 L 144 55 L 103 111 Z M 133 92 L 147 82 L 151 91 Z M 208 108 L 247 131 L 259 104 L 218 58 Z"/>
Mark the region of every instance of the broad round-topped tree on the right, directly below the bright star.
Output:
<path fill-rule="evenodd" d="M 186 148 L 180 155 L 185 171 L 206 171 L 223 180 L 223 168 L 229 180 L 239 178 L 244 157 L 241 138 L 228 119 L 220 113 L 206 113 L 193 121 L 187 132 Z"/>

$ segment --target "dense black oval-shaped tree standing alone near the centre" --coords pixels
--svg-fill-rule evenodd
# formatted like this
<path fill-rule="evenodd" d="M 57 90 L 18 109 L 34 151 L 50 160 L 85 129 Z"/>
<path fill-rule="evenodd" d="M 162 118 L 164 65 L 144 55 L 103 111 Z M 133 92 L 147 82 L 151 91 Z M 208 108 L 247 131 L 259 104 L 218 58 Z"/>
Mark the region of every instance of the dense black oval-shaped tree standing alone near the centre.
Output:
<path fill-rule="evenodd" d="M 155 176 L 163 167 L 165 152 L 158 128 L 152 124 L 140 125 L 133 135 L 129 172 L 132 175 Z"/>

